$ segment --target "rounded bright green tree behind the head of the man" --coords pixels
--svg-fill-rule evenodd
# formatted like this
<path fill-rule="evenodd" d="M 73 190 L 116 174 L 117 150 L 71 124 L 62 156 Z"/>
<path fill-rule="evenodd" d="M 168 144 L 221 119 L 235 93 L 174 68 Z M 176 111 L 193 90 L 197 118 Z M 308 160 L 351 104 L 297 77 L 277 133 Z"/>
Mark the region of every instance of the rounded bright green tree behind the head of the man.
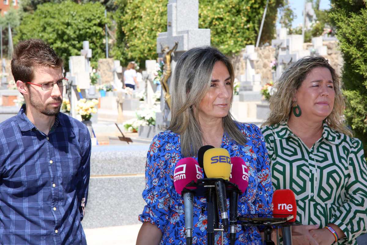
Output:
<path fill-rule="evenodd" d="M 26 13 L 17 28 L 14 44 L 20 40 L 39 38 L 45 40 L 61 55 L 68 69 L 71 55 L 80 55 L 83 41 L 89 41 L 92 49 L 92 64 L 104 58 L 104 27 L 108 19 L 100 3 L 77 4 L 72 1 L 45 3 Z"/>

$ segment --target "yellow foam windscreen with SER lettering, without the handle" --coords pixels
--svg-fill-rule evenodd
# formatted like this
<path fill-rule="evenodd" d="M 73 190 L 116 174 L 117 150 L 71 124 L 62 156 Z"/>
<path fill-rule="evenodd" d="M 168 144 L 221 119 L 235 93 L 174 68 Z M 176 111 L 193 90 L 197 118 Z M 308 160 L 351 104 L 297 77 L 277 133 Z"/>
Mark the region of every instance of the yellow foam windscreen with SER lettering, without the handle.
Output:
<path fill-rule="evenodd" d="M 208 178 L 229 180 L 230 167 L 230 156 L 226 149 L 212 148 L 204 153 L 204 172 Z"/>

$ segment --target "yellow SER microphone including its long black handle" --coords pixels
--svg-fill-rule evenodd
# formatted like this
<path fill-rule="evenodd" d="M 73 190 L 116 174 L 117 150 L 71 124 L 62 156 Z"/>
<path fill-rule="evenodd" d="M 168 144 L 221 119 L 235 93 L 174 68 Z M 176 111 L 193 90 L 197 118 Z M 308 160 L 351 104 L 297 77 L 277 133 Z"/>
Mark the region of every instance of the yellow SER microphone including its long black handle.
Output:
<path fill-rule="evenodd" d="M 217 201 L 225 231 L 228 231 L 229 219 L 224 180 L 229 180 L 231 164 L 229 152 L 223 148 L 211 148 L 204 153 L 204 172 L 208 178 L 222 179 L 215 181 Z"/>

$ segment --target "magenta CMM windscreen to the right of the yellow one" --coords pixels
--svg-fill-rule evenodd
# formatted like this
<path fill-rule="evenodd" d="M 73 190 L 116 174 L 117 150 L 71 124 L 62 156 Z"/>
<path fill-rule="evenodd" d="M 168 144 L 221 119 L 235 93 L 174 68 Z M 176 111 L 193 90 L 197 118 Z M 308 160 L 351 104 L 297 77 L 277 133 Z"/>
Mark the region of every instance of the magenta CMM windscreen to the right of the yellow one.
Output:
<path fill-rule="evenodd" d="M 241 192 L 244 193 L 248 186 L 248 169 L 245 161 L 238 156 L 230 158 L 232 170 L 230 172 L 229 181 L 238 185 Z"/>

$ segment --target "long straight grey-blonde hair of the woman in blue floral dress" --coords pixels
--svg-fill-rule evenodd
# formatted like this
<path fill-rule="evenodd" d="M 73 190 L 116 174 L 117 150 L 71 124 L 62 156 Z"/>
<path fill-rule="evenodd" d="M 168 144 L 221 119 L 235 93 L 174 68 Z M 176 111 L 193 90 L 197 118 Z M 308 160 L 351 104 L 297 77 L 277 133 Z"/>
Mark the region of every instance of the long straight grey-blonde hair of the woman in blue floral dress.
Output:
<path fill-rule="evenodd" d="M 193 108 L 199 107 L 201 100 L 209 91 L 213 67 L 217 61 L 222 61 L 226 65 L 233 91 L 233 66 L 217 48 L 210 46 L 191 48 L 177 61 L 172 80 L 172 116 L 168 129 L 181 135 L 183 156 L 195 156 L 203 146 L 203 134 L 198 120 L 199 110 L 194 112 Z M 237 127 L 238 123 L 230 112 L 222 120 L 226 136 L 237 144 L 246 144 L 246 137 Z"/>

